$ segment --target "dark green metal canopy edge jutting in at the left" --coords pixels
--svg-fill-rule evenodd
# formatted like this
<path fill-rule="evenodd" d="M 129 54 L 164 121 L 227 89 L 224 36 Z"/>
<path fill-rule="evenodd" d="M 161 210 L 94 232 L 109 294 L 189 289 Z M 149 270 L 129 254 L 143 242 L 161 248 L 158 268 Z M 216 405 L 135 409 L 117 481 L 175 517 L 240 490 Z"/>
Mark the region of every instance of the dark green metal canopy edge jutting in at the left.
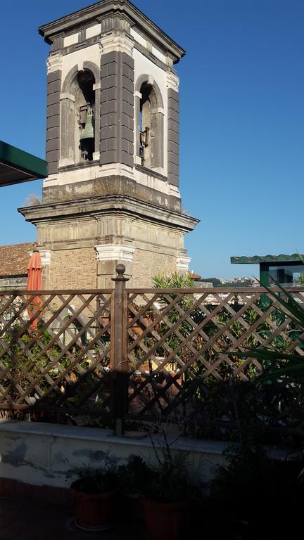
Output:
<path fill-rule="evenodd" d="M 46 178 L 47 163 L 0 141 L 0 187 Z"/>

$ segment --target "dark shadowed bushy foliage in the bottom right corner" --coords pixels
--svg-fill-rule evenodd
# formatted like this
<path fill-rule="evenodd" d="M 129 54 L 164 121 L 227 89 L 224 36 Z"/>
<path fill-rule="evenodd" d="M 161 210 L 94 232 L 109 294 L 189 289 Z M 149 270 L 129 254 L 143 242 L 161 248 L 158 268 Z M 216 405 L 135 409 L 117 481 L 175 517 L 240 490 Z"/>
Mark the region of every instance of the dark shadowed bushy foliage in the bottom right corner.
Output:
<path fill-rule="evenodd" d="M 210 500 L 222 508 L 224 520 L 246 522 L 247 528 L 262 527 L 254 538 L 279 538 L 274 529 L 281 533 L 282 525 L 290 527 L 302 506 L 302 466 L 303 456 L 274 458 L 259 446 L 230 447 L 210 484 Z M 268 536 L 265 527 L 274 536 Z"/>

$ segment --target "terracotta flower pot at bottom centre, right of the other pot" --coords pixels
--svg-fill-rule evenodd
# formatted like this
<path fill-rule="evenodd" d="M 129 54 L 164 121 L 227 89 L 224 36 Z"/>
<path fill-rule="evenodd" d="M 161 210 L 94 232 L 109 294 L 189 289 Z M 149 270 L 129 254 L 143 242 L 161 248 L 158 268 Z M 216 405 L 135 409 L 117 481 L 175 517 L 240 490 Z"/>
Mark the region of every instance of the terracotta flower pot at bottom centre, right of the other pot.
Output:
<path fill-rule="evenodd" d="M 190 501 L 160 503 L 142 499 L 144 522 L 149 540 L 182 540 L 189 517 Z"/>

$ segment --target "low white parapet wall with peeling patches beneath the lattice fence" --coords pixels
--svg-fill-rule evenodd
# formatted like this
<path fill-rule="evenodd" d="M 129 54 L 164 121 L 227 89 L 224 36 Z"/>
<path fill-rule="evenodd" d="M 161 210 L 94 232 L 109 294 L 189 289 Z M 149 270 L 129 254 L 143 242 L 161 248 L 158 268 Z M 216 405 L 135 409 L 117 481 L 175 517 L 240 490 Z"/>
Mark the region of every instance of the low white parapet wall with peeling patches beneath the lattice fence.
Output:
<path fill-rule="evenodd" d="M 36 486 L 68 488 L 71 471 L 82 465 L 104 466 L 110 459 L 125 463 L 137 454 L 156 464 L 151 444 L 160 451 L 160 435 L 130 432 L 115 437 L 111 430 L 80 428 L 36 422 L 0 421 L 0 478 L 18 480 Z M 169 435 L 168 441 L 176 434 Z M 225 442 L 178 438 L 172 451 L 183 453 L 186 466 L 198 482 L 208 482 L 217 465 L 224 463 Z"/>

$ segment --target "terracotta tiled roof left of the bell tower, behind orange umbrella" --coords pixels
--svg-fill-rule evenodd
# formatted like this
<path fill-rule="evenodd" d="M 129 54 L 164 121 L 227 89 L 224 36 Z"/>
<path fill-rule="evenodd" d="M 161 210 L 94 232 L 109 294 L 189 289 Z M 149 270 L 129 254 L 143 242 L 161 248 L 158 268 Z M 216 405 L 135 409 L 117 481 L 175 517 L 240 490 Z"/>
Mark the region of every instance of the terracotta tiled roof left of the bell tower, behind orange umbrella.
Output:
<path fill-rule="evenodd" d="M 33 242 L 0 245 L 0 277 L 26 276 L 27 264 L 30 261 L 29 251 L 33 249 Z"/>

